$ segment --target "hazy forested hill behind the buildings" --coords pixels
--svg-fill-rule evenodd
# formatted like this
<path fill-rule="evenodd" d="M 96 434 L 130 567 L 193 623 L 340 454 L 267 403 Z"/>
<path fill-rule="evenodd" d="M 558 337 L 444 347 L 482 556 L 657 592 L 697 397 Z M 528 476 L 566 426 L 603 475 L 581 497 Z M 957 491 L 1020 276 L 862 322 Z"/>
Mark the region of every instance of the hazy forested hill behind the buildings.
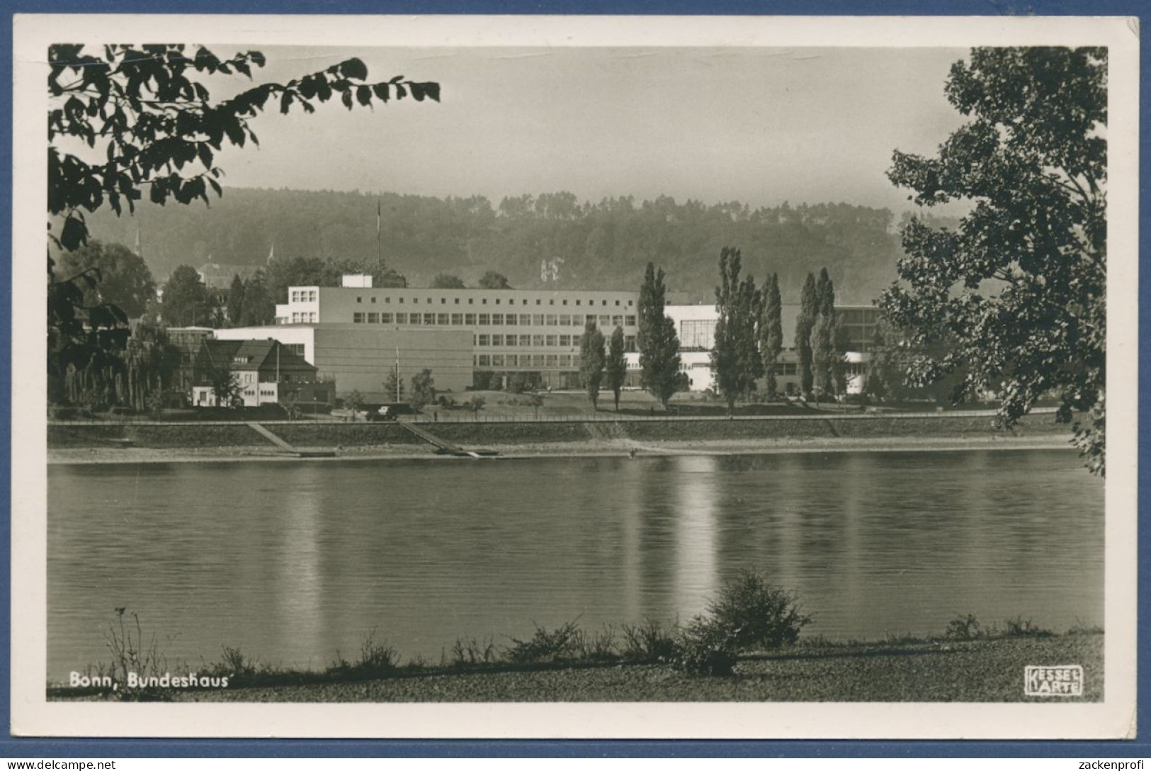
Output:
<path fill-rule="evenodd" d="M 839 301 L 870 303 L 894 278 L 899 236 L 887 209 L 818 204 L 752 209 L 661 197 L 599 204 L 566 192 L 505 198 L 227 189 L 211 207 L 142 204 L 135 219 L 107 209 L 89 217 L 92 236 L 140 245 L 158 281 L 178 265 L 262 265 L 320 257 L 374 260 L 376 207 L 383 259 L 427 285 L 439 273 L 467 285 L 487 270 L 520 289 L 640 285 L 650 260 L 669 288 L 711 300 L 719 250 L 742 250 L 745 272 L 779 273 L 785 301 L 798 301 L 808 272 L 826 267 Z M 548 270 L 541 272 L 547 265 Z"/>

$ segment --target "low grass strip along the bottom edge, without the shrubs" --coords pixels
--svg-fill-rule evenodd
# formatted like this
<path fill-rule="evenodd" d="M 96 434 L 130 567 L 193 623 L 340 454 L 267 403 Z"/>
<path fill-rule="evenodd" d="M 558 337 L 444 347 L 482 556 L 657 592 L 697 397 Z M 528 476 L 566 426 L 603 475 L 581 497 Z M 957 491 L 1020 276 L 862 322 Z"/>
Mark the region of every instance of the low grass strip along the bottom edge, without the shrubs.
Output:
<path fill-rule="evenodd" d="M 692 675 L 668 664 L 581 662 L 539 666 L 406 667 L 383 677 L 280 673 L 274 686 L 171 692 L 203 702 L 1020 702 L 1023 667 L 1081 664 L 1084 695 L 1103 699 L 1099 632 L 831 643 L 822 640 L 746 654 L 729 677 Z M 270 677 L 270 675 L 269 675 Z M 49 690 L 54 700 L 108 695 Z M 1050 701 L 1050 700 L 1046 700 Z M 1064 701 L 1064 700 L 1061 700 Z"/>

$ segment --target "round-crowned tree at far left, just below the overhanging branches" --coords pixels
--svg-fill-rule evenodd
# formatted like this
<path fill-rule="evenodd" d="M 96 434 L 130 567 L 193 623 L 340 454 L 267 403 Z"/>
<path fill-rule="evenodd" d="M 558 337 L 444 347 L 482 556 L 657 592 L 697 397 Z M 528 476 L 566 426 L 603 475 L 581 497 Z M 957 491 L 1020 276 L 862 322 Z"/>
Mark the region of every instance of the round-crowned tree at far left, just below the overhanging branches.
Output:
<path fill-rule="evenodd" d="M 122 244 L 90 241 L 74 252 L 62 252 L 55 273 L 67 278 L 87 268 L 96 268 L 98 283 L 82 287 L 84 305 L 112 304 L 129 319 L 138 319 L 155 297 L 152 272 L 142 257 Z"/>

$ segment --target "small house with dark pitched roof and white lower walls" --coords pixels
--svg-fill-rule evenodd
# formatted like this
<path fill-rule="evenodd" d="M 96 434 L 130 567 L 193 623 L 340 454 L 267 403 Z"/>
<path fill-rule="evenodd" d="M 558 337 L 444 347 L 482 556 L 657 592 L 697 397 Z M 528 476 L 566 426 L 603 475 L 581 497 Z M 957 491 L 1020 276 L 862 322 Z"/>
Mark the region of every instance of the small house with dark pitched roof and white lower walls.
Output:
<path fill-rule="evenodd" d="M 214 407 L 227 374 L 234 397 L 245 407 L 295 403 L 300 407 L 330 405 L 336 384 L 274 339 L 205 339 L 192 365 L 192 405 Z"/>

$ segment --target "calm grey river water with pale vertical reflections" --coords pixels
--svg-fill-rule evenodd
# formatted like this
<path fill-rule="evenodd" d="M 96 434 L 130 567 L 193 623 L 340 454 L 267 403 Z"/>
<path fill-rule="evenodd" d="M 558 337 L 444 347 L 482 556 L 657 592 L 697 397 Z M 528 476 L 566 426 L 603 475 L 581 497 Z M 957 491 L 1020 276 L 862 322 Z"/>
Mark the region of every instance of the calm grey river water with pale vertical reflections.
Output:
<path fill-rule="evenodd" d="M 744 567 L 833 639 L 1102 626 L 1103 519 L 1062 450 L 53 465 L 48 677 L 109 661 L 119 606 L 169 662 L 322 667 L 373 628 L 439 662 L 687 619 Z"/>

